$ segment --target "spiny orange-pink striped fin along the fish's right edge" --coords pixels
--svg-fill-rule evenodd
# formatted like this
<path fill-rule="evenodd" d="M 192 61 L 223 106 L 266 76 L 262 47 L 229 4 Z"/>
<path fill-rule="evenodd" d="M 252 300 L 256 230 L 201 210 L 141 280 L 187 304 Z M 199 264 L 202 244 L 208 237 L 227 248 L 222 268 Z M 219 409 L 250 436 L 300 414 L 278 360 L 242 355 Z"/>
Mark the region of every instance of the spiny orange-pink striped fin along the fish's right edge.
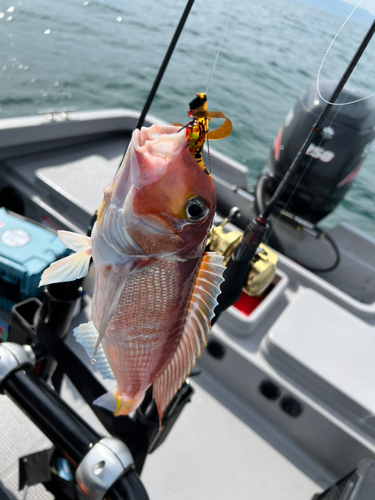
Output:
<path fill-rule="evenodd" d="M 203 255 L 186 313 L 184 329 L 175 353 L 154 382 L 154 398 L 160 421 L 173 396 L 202 354 L 211 333 L 211 319 L 224 281 L 223 257 L 214 252 Z"/>

